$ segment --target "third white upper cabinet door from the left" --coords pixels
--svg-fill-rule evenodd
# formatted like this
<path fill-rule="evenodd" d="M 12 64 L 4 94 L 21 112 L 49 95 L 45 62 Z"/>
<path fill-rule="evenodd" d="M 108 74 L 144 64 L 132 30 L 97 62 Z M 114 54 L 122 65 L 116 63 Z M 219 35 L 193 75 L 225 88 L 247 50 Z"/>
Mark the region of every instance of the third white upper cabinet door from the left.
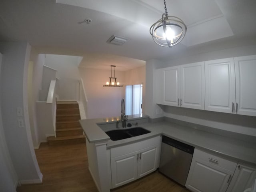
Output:
<path fill-rule="evenodd" d="M 206 61 L 205 110 L 233 113 L 235 102 L 234 59 Z"/>

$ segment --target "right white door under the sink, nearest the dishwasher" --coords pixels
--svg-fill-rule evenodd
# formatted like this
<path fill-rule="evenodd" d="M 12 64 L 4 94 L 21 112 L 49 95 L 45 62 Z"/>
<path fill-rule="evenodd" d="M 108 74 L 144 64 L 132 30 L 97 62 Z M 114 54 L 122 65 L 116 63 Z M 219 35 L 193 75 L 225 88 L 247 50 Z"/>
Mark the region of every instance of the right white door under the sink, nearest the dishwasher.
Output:
<path fill-rule="evenodd" d="M 152 146 L 139 151 L 138 178 L 156 170 L 157 150 L 157 146 Z"/>

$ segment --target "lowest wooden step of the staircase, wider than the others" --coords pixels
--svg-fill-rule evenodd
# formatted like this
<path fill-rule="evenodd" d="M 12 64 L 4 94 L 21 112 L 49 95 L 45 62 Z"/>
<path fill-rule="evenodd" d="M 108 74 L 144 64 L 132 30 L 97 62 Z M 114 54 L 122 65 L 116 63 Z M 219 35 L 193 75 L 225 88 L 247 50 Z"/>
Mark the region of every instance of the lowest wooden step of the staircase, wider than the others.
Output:
<path fill-rule="evenodd" d="M 85 143 L 85 135 L 47 137 L 47 140 L 50 146 L 62 145 L 62 144 L 78 144 L 78 143 Z"/>

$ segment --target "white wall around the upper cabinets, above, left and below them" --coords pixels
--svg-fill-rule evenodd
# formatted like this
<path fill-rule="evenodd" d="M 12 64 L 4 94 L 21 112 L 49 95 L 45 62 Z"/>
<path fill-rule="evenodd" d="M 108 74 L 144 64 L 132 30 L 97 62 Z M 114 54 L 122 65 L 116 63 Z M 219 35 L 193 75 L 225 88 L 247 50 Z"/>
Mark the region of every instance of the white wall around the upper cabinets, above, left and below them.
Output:
<path fill-rule="evenodd" d="M 177 60 L 169 60 L 167 62 L 160 62 L 158 60 L 150 60 L 146 62 L 146 85 L 153 83 L 154 78 L 152 71 L 156 68 L 163 68 L 168 66 L 176 66 L 180 64 L 187 64 L 192 62 L 200 62 L 206 60 L 214 60 L 219 58 L 229 58 L 236 56 L 246 56 L 256 54 L 256 45 L 242 46 L 214 52 L 207 52 L 203 54 L 196 54 L 192 56 L 182 57 Z M 157 85 L 154 85 L 157 86 Z M 149 88 L 148 88 L 149 87 Z M 147 89 L 148 88 L 148 89 Z M 146 86 L 146 106 L 149 104 L 147 114 L 152 118 L 156 118 L 156 101 L 152 97 L 153 90 L 150 86 Z M 187 108 L 178 108 L 172 106 L 160 106 L 164 110 L 164 116 L 183 120 L 186 122 L 201 124 L 204 126 L 214 127 L 220 130 L 227 130 L 236 133 L 247 135 L 255 135 L 256 133 L 256 118 L 251 116 L 224 114 L 219 112 L 210 112 L 204 110 L 193 110 Z M 186 114 L 186 115 L 185 115 Z"/>

